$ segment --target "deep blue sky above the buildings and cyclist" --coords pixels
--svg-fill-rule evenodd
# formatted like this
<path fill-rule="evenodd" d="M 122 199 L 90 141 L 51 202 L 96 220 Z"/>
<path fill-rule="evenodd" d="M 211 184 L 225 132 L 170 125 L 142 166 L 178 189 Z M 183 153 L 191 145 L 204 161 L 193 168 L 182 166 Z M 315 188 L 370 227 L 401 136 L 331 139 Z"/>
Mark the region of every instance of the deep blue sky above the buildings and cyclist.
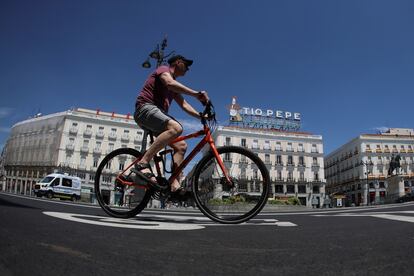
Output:
<path fill-rule="evenodd" d="M 413 128 L 413 14 L 409 0 L 2 0 L 0 147 L 38 112 L 132 113 L 150 73 L 141 63 L 164 35 L 167 50 L 195 60 L 180 80 L 208 91 L 221 122 L 232 96 L 300 112 L 325 153 L 361 133 Z"/>

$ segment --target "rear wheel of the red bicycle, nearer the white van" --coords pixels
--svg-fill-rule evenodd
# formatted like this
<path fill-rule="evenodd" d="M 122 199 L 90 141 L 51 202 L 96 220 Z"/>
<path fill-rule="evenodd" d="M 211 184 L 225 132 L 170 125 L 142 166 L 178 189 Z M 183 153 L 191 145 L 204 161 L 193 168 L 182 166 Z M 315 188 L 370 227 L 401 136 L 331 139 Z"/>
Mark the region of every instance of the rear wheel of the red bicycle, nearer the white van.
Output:
<path fill-rule="evenodd" d="M 95 193 L 99 205 L 108 215 L 116 218 L 134 217 L 151 199 L 149 189 L 123 185 L 116 180 L 124 169 L 141 156 L 137 150 L 121 148 L 109 153 L 99 164 L 95 175 Z M 122 177 L 132 181 L 134 174 L 130 169 Z"/>

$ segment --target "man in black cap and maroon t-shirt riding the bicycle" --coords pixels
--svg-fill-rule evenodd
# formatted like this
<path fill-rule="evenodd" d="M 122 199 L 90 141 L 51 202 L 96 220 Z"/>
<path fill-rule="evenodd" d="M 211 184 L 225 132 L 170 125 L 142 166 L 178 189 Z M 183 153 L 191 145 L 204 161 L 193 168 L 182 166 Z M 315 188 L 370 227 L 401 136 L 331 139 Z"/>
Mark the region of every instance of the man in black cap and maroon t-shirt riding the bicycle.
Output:
<path fill-rule="evenodd" d="M 141 128 L 150 130 L 156 136 L 154 143 L 135 166 L 137 180 L 147 183 L 156 183 L 149 165 L 150 160 L 167 145 L 174 150 L 173 168 L 177 168 L 184 160 L 187 143 L 180 141 L 170 144 L 183 132 L 182 125 L 168 115 L 172 100 L 175 100 L 186 113 L 198 119 L 200 114 L 184 99 L 183 94 L 193 96 L 203 104 L 209 100 L 206 91 L 198 92 L 176 81 L 176 78 L 187 73 L 193 64 L 192 60 L 175 55 L 168 60 L 168 64 L 169 66 L 160 66 L 151 73 L 135 103 L 135 121 Z M 176 179 L 171 183 L 171 192 L 179 193 L 180 190 L 180 183 Z"/>

